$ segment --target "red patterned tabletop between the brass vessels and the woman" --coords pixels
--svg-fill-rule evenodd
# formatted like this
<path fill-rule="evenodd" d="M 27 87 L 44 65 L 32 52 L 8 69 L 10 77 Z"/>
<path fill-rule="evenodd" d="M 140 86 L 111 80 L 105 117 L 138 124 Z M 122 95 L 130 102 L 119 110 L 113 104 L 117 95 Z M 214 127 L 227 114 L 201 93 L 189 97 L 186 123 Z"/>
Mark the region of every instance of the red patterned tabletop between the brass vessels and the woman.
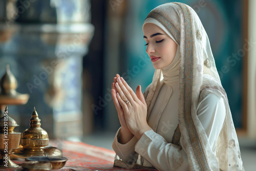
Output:
<path fill-rule="evenodd" d="M 131 170 L 113 167 L 115 152 L 110 149 L 85 144 L 83 142 L 62 140 L 51 141 L 49 145 L 63 149 L 63 157 L 68 158 L 66 165 L 58 170 Z M 22 170 L 22 161 L 12 161 L 18 164 L 19 167 L 15 169 L 5 168 L 0 170 Z"/>

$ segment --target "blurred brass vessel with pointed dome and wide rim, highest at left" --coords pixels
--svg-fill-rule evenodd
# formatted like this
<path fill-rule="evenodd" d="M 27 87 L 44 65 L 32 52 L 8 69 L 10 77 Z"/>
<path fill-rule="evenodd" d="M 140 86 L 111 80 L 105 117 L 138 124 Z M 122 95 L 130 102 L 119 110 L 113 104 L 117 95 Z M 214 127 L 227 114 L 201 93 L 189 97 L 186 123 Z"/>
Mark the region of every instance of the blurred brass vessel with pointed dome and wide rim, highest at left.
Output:
<path fill-rule="evenodd" d="M 5 106 L 8 105 L 20 105 L 26 104 L 29 99 L 28 94 L 20 94 L 16 92 L 17 88 L 17 80 L 10 71 L 10 66 L 6 66 L 6 72 L 3 77 L 0 79 L 0 113 L 3 117 L 3 112 L 5 110 Z"/>

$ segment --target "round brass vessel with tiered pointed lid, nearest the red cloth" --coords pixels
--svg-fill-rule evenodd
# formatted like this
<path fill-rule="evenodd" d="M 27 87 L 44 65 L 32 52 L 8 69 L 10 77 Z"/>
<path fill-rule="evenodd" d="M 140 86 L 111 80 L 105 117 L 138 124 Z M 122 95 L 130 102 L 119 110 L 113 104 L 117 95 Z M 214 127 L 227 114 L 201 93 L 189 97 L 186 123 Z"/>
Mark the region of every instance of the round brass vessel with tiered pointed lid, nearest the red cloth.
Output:
<path fill-rule="evenodd" d="M 27 158 L 31 156 L 45 156 L 44 149 L 49 143 L 48 133 L 41 128 L 37 112 L 33 111 L 30 119 L 30 127 L 22 133 L 18 150 L 15 150 L 14 157 Z"/>

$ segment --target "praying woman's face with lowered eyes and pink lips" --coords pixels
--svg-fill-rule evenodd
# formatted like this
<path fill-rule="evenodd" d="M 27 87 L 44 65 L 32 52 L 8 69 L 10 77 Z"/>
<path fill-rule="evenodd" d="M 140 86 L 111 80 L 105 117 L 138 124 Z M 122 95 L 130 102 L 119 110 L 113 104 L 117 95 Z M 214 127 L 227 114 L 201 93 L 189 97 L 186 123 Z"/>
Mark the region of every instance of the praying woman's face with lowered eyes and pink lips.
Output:
<path fill-rule="evenodd" d="M 146 23 L 143 27 L 146 53 L 150 56 L 155 69 L 167 67 L 176 55 L 177 44 L 160 27 Z"/>

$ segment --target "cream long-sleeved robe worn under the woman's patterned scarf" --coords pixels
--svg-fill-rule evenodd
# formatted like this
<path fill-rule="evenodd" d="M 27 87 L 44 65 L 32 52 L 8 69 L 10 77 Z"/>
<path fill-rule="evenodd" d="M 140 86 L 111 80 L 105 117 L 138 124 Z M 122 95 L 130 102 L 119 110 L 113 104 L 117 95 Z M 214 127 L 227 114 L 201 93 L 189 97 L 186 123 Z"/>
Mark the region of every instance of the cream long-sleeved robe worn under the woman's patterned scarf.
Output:
<path fill-rule="evenodd" d="M 140 140 L 134 136 L 126 144 L 120 144 L 119 130 L 113 141 L 113 149 L 124 161 L 132 161 L 135 152 L 141 155 L 143 166 L 154 166 L 159 170 L 173 170 L 176 156 L 182 156 L 182 164 L 176 170 L 188 170 L 186 153 L 178 145 L 172 144 L 174 131 L 178 125 L 179 86 L 163 83 L 153 106 L 148 125 Z M 159 109 L 164 109 L 160 111 Z M 198 103 L 198 118 L 204 127 L 212 152 L 216 152 L 217 138 L 223 127 L 226 109 L 224 99 L 209 93 Z"/>

